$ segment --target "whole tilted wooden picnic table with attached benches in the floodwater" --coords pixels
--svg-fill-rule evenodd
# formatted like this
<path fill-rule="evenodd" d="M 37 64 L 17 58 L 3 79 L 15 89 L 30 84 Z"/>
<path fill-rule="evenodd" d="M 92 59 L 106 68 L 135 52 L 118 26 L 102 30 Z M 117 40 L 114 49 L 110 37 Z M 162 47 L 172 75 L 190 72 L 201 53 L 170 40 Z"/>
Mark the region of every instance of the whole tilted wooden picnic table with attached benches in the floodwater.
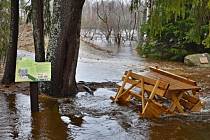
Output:
<path fill-rule="evenodd" d="M 153 118 L 164 114 L 198 112 L 203 103 L 198 98 L 200 88 L 196 82 L 157 67 L 150 71 L 126 71 L 113 101 L 129 104 L 135 100 L 141 105 L 139 114 Z"/>

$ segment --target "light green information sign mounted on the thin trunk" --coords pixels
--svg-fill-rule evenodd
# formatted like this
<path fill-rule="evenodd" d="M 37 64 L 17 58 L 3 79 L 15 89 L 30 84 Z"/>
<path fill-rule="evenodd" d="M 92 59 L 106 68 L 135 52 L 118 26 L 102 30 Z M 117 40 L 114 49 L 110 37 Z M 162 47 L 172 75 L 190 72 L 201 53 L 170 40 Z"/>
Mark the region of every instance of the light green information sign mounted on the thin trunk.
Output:
<path fill-rule="evenodd" d="M 37 82 L 50 80 L 50 62 L 35 62 L 30 57 L 20 57 L 17 59 L 15 82 Z"/>

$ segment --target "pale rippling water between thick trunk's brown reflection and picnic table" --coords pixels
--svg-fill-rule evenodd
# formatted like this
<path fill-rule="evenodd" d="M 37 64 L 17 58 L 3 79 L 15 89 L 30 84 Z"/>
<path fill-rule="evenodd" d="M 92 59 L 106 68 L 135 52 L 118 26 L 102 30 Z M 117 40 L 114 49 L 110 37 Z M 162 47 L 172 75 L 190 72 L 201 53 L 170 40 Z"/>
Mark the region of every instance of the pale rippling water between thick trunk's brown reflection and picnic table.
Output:
<path fill-rule="evenodd" d="M 72 119 L 72 112 L 80 111 L 83 116 L 80 125 L 72 123 L 71 120 L 68 125 L 69 136 L 76 140 L 147 139 L 148 121 L 139 120 L 136 112 L 112 103 L 109 97 L 115 92 L 109 89 L 98 89 L 94 96 L 80 94 L 75 99 L 73 107 L 68 102 L 60 106 L 62 112 L 70 116 L 70 119 Z"/>

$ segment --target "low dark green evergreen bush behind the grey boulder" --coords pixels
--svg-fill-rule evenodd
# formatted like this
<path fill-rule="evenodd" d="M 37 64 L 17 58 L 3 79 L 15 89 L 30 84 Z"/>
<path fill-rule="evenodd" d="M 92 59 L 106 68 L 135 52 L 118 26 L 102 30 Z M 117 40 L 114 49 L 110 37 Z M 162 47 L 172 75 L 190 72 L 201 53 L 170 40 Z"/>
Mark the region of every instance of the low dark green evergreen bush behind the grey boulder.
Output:
<path fill-rule="evenodd" d="M 194 36 L 192 29 L 195 21 L 191 18 L 171 20 L 163 24 L 161 32 L 156 34 L 151 32 L 149 23 L 142 27 L 142 32 L 147 34 L 147 40 L 138 46 L 140 55 L 183 61 L 188 54 L 207 51 L 201 40 L 205 38 L 205 34 L 208 34 L 208 28 L 206 28 L 208 24 L 201 26 L 200 35 Z"/>

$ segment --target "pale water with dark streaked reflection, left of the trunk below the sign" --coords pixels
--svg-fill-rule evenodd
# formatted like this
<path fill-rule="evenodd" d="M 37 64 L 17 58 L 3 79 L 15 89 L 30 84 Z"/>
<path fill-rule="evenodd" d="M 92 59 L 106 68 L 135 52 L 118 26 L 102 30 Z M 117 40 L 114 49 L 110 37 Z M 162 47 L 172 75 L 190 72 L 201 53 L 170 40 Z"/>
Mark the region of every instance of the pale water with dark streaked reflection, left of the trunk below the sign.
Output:
<path fill-rule="evenodd" d="M 0 139 L 28 139 L 31 131 L 29 98 L 0 94 Z"/>

